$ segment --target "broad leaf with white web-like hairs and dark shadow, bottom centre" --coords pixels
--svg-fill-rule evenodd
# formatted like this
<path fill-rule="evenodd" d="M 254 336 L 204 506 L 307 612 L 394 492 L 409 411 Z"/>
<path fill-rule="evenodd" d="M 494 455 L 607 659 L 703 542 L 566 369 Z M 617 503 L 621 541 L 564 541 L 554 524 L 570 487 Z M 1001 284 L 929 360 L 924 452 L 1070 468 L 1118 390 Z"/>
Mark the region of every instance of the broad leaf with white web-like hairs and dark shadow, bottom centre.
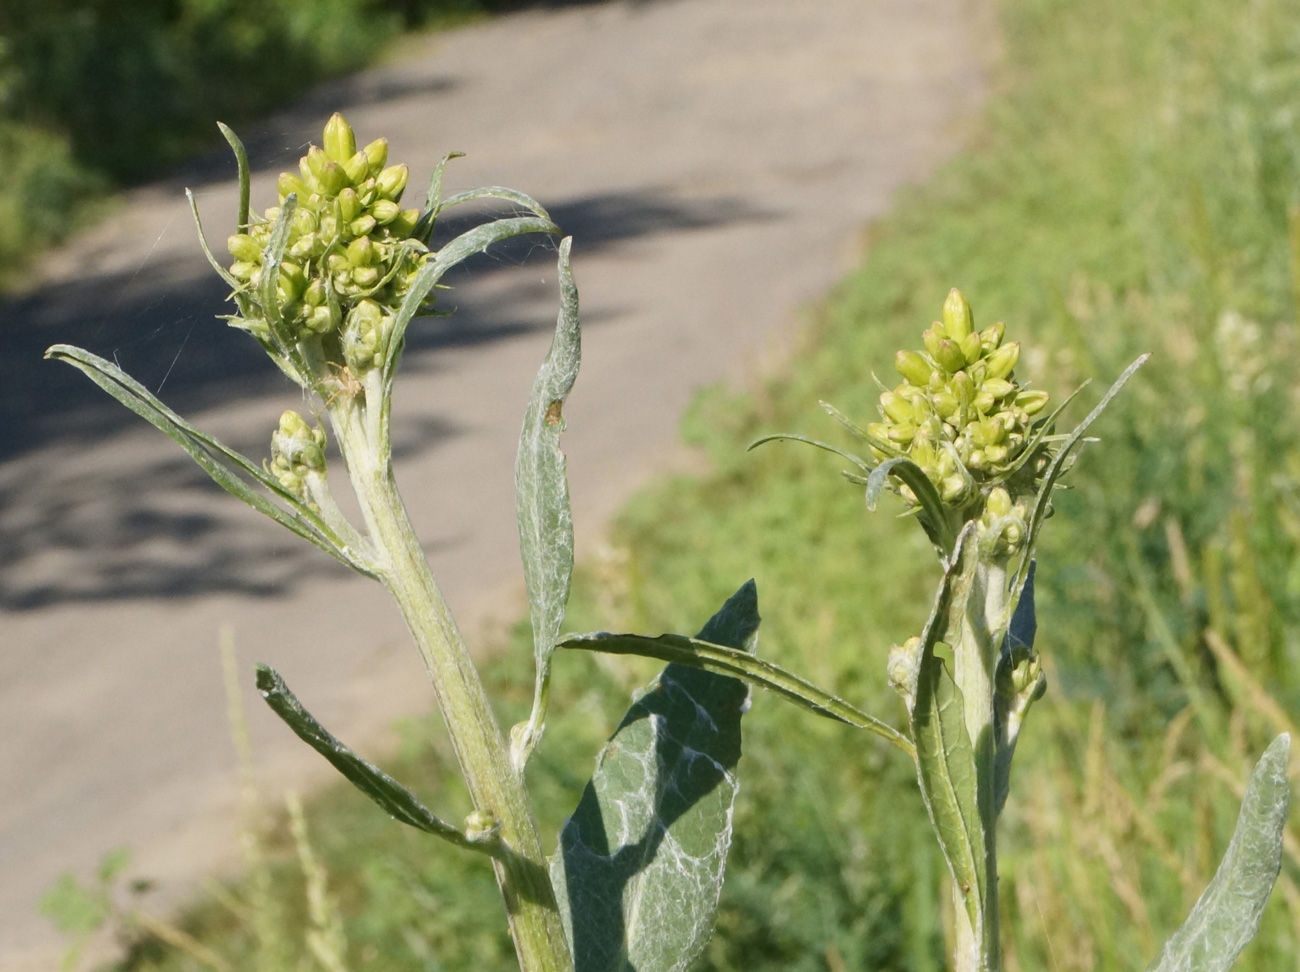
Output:
<path fill-rule="evenodd" d="M 702 638 L 753 651 L 750 581 Z M 551 880 L 576 972 L 685 972 L 712 934 L 732 836 L 744 682 L 668 665 L 597 758 Z"/>

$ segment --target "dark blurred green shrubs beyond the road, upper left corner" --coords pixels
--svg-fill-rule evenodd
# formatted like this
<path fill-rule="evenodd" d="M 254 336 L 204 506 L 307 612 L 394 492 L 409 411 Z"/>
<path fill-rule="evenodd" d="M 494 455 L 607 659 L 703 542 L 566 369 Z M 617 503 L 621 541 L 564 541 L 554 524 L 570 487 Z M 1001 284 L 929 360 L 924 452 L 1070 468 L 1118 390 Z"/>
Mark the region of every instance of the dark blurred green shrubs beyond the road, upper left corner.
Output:
<path fill-rule="evenodd" d="M 156 174 L 403 30 L 523 0 L 0 4 L 0 287 L 113 188 Z"/>

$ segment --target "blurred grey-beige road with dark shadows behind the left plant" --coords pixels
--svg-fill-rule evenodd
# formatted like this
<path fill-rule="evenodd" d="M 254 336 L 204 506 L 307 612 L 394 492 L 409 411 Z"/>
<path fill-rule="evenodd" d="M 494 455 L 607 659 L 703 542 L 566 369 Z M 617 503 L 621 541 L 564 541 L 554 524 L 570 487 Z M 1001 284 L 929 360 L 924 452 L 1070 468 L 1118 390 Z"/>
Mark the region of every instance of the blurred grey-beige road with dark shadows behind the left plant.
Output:
<path fill-rule="evenodd" d="M 681 463 L 692 394 L 744 381 L 840 277 L 861 230 L 959 140 L 979 104 L 967 0 L 658 0 L 556 6 L 411 42 L 243 133 L 254 201 L 343 109 L 421 185 L 536 195 L 576 238 L 585 356 L 567 409 L 578 546 Z M 325 723 L 382 746 L 429 703 L 381 591 L 214 491 L 170 442 L 70 369 L 118 361 L 237 448 L 263 456 L 298 400 L 213 320 L 214 240 L 233 224 L 224 156 L 131 192 L 0 307 L 0 968 L 51 968 L 35 901 L 116 846 L 183 894 L 233 858 L 234 769 L 217 632 L 285 673 Z M 554 246 L 478 259 L 452 318 L 412 329 L 399 459 L 436 573 L 472 634 L 517 616 L 512 463 L 555 317 Z M 320 774 L 252 712 L 277 782 Z"/>

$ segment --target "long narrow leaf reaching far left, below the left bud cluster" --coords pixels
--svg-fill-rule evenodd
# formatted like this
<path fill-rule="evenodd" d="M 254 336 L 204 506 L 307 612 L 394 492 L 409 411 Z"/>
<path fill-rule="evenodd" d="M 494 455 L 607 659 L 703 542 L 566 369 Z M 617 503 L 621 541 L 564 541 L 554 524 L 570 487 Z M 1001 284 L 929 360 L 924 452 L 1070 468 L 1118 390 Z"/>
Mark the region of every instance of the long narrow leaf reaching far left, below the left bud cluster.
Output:
<path fill-rule="evenodd" d="M 55 344 L 46 351 L 46 357 L 73 365 L 135 415 L 177 442 L 226 492 L 238 496 L 259 513 L 265 513 L 354 570 L 367 577 L 377 576 L 378 568 L 370 560 L 368 551 L 363 550 L 365 544 L 360 537 L 341 537 L 320 513 L 281 486 L 276 477 L 260 469 L 247 456 L 195 429 L 112 361 L 72 344 Z M 290 509 L 272 503 L 246 480 L 254 480 L 264 486 Z"/>

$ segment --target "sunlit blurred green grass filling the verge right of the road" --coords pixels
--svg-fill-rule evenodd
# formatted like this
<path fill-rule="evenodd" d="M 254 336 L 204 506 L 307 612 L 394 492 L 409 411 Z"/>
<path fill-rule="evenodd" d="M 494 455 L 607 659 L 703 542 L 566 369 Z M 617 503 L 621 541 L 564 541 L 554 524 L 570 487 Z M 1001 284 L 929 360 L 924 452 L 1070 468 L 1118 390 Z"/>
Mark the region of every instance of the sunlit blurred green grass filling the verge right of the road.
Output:
<path fill-rule="evenodd" d="M 662 482 L 625 512 L 569 625 L 693 632 L 753 576 L 759 650 L 897 721 L 885 652 L 919 632 L 937 580 L 920 530 L 868 516 L 826 454 L 745 444 L 774 430 L 832 438 L 819 399 L 871 418 L 872 372 L 890 381 L 893 350 L 918 344 L 954 285 L 978 321 L 1008 322 L 1030 348 L 1019 374 L 1058 398 L 1153 351 L 1045 530 L 1050 687 L 1022 737 L 1001 841 L 1008 969 L 1127 971 L 1213 873 L 1253 759 L 1300 721 L 1300 0 L 998 10 L 1002 60 L 972 144 L 874 227 L 783 377 L 701 396 L 685 431 L 714 472 Z M 69 172 L 77 151 L 64 148 Z M 507 725 L 526 704 L 526 654 L 520 641 L 490 667 Z M 575 806 L 628 691 L 651 674 L 559 659 L 530 771 L 543 828 Z M 770 698 L 746 726 L 738 836 L 703 967 L 942 968 L 946 878 L 909 767 Z M 454 807 L 464 798 L 445 745 L 430 752 L 436 730 L 410 726 L 395 769 Z M 250 817 L 263 863 L 181 920 L 224 967 L 329 968 L 306 945 L 326 928 L 347 967 L 514 967 L 480 862 L 348 791 L 307 817 L 335 910 L 313 916 L 285 821 Z M 1300 813 L 1238 968 L 1300 964 L 1297 882 Z M 250 917 L 257 902 L 282 910 L 276 936 Z M 153 933 L 134 941 L 125 968 L 212 967 Z"/>

